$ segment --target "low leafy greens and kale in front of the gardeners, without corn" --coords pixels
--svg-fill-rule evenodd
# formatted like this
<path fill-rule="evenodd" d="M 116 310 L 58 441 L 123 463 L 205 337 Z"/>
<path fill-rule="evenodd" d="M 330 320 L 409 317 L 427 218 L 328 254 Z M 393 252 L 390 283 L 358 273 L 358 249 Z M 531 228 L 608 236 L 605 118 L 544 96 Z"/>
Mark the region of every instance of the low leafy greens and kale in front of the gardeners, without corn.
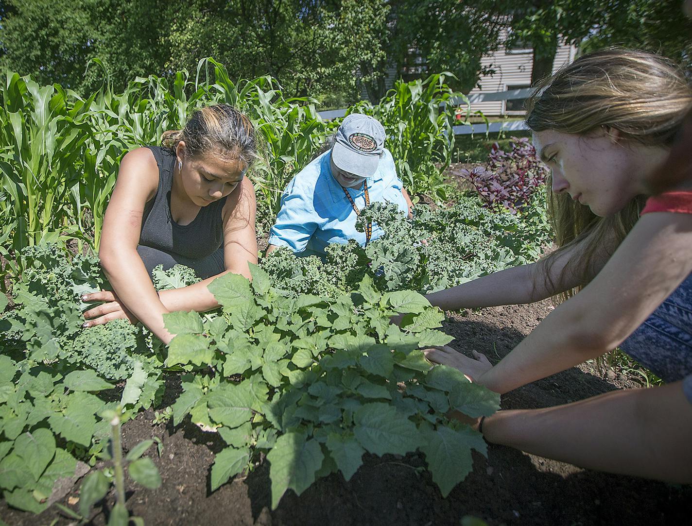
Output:
<path fill-rule="evenodd" d="M 448 494 L 470 471 L 471 449 L 485 446 L 446 413 L 491 414 L 499 397 L 456 370 L 431 368 L 419 348 L 450 341 L 436 330 L 444 314 L 406 289 L 436 290 L 526 261 L 547 229 L 477 198 L 414 220 L 377 204 L 364 214 L 386 225 L 382 238 L 331 247 L 324 263 L 277 251 L 252 268 L 252 283 L 237 274 L 215 280 L 221 309 L 167 315 L 177 335 L 168 347 L 124 320 L 82 329 L 81 294 L 108 287 L 98 259 L 53 244 L 24 248 L 14 305 L 0 321 L 3 498 L 42 511 L 78 460 L 113 460 L 107 446 L 118 433 L 109 422 L 150 407 L 174 425 L 189 415 L 226 442 L 212 490 L 265 453 L 275 506 L 286 489 L 300 494 L 333 471 L 350 478 L 365 451 L 419 450 Z M 194 281 L 186 267 L 154 272 L 159 290 Z M 400 327 L 394 314 L 404 315 Z M 166 375 L 180 375 L 182 391 L 168 393 L 175 402 L 164 408 Z M 150 445 L 131 456 L 129 475 L 156 485 L 153 464 L 138 458 Z M 84 516 L 111 479 L 102 471 L 85 479 Z"/>

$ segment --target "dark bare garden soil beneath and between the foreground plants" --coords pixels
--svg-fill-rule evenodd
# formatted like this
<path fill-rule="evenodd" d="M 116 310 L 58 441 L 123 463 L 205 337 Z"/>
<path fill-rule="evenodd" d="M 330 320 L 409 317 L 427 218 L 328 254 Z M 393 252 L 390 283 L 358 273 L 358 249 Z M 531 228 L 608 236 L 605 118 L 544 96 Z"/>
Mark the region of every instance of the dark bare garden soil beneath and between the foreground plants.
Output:
<path fill-rule="evenodd" d="M 531 306 L 486 308 L 453 314 L 444 330 L 459 350 L 475 349 L 498 361 L 551 309 L 547 301 Z M 639 387 L 632 378 L 601 374 L 590 364 L 572 368 L 517 389 L 502 399 L 504 408 L 563 404 L 617 388 Z M 169 392 L 175 392 L 171 383 Z M 168 400 L 167 403 L 172 402 Z M 300 497 L 289 491 L 270 510 L 268 464 L 244 480 L 233 480 L 213 494 L 209 469 L 221 440 L 183 422 L 173 428 L 152 424 L 147 411 L 124 426 L 124 447 L 156 435 L 163 453 L 151 455 L 163 478 L 159 489 L 128 485 L 128 508 L 153 525 L 459 525 L 477 516 L 489 525 L 682 525 L 689 524 L 692 487 L 608 475 L 563 462 L 527 455 L 507 447 L 489 447 L 489 458 L 475 455 L 473 472 L 442 498 L 430 475 L 419 469 L 419 455 L 368 456 L 349 482 L 340 475 L 319 480 Z M 79 482 L 60 502 L 78 509 Z M 94 511 L 93 525 L 107 523 L 113 494 Z M 12 526 L 68 525 L 51 507 L 40 516 L 23 514 L 0 503 L 0 517 Z M 53 520 L 57 519 L 56 523 Z"/>

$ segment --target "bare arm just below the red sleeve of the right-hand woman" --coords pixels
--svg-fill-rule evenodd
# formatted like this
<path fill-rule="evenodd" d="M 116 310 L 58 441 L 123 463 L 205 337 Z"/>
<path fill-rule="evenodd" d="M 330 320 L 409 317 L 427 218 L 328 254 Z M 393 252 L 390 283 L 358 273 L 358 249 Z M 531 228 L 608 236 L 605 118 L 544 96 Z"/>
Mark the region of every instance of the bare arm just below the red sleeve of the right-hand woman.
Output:
<path fill-rule="evenodd" d="M 430 350 L 498 393 L 617 347 L 692 272 L 692 214 L 646 214 L 603 270 L 558 306 L 509 355 L 488 368 L 453 349 Z"/>

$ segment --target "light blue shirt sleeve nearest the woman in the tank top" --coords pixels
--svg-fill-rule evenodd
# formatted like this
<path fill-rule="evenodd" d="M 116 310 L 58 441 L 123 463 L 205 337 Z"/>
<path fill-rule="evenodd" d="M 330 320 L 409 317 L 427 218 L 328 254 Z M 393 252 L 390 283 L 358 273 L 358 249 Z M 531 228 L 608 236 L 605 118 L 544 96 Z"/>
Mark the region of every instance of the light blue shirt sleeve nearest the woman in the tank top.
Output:
<path fill-rule="evenodd" d="M 289 183 L 281 197 L 281 209 L 276 216 L 276 223 L 269 233 L 270 245 L 289 247 L 295 253 L 305 250 L 317 229 L 311 201 L 311 196 L 295 185 L 295 180 Z"/>

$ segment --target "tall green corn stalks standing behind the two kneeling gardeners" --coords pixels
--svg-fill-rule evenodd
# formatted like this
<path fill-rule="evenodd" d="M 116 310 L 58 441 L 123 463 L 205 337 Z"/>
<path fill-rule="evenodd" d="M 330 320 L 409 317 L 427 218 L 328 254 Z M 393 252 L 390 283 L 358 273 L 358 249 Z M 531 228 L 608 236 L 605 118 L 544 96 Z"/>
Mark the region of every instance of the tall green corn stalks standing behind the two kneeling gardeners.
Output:
<path fill-rule="evenodd" d="M 94 61 L 96 66 L 100 63 Z M 19 274 L 14 252 L 39 241 L 76 238 L 98 249 L 100 229 L 122 156 L 135 147 L 160 144 L 181 129 L 192 112 L 228 103 L 244 111 L 259 131 L 264 156 L 253 170 L 258 229 L 266 232 L 280 192 L 313 158 L 336 122 L 325 122 L 309 97 L 288 97 L 271 77 L 228 78 L 213 59 L 199 62 L 174 81 L 138 77 L 124 93 L 104 84 L 80 97 L 59 84 L 39 86 L 31 77 L 6 73 L 0 83 L 0 247 L 5 274 Z M 370 113 L 388 133 L 387 146 L 412 194 L 447 196 L 441 172 L 454 145 L 455 107 L 440 104 L 461 96 L 444 75 L 400 82 L 381 104 L 361 102 L 349 111 Z"/>

